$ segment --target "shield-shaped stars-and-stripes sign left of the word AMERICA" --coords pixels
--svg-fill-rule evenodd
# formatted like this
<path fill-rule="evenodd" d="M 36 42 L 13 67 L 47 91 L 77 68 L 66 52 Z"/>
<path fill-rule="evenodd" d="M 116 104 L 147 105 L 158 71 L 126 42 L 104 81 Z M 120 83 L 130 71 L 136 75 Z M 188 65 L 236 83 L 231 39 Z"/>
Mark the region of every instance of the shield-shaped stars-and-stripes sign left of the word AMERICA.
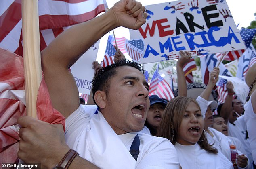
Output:
<path fill-rule="evenodd" d="M 134 61 L 139 61 L 142 57 L 144 43 L 142 39 L 139 40 L 126 40 L 126 51 Z"/>

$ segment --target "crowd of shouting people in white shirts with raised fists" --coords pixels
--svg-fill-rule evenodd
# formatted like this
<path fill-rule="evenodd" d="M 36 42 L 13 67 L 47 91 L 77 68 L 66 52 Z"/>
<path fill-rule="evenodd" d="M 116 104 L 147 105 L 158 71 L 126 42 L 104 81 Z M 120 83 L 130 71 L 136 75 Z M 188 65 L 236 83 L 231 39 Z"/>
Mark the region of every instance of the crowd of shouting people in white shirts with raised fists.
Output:
<path fill-rule="evenodd" d="M 210 72 L 208 85 L 199 96 L 187 97 L 182 67 L 191 54 L 180 51 L 178 97 L 165 100 L 149 96 L 142 66 L 123 59 L 117 50 L 112 65 L 101 69 L 93 63 L 92 104 L 84 105 L 69 71 L 71 65 L 110 30 L 118 26 L 138 29 L 146 17 L 141 3 L 121 0 L 105 14 L 67 29 L 42 51 L 44 79 L 52 105 L 66 118 L 65 133 L 60 124 L 30 116 L 19 118 L 20 159 L 50 169 L 255 167 L 256 66 L 246 74 L 250 86 L 246 104 L 233 99 L 235 93 L 229 82 L 225 103 L 218 106 L 209 97 L 219 69 Z M 213 116 L 216 108 L 219 115 Z M 230 145 L 237 149 L 235 163 Z"/>

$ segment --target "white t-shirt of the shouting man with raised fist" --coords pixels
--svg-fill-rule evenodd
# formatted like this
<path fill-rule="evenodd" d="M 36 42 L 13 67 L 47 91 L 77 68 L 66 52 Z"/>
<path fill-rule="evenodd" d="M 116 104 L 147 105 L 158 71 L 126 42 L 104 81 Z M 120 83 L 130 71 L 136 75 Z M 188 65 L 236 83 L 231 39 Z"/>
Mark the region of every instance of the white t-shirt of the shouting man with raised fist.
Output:
<path fill-rule="evenodd" d="M 65 140 L 81 157 L 104 169 L 170 169 L 179 168 L 178 155 L 166 138 L 141 132 L 117 135 L 96 106 L 80 105 L 66 119 Z M 136 135 L 140 146 L 137 161 L 130 154 Z"/>

